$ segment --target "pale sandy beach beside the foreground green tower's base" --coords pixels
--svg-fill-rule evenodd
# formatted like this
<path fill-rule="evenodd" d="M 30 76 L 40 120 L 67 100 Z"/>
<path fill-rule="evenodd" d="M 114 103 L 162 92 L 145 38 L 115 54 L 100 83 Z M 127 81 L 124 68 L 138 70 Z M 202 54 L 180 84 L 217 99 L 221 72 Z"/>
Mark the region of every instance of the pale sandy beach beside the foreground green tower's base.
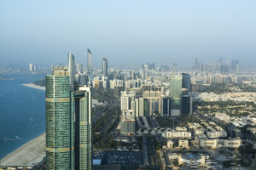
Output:
<path fill-rule="evenodd" d="M 5 156 L 2 166 L 32 166 L 43 160 L 45 156 L 45 133 L 20 146 L 17 150 Z"/>

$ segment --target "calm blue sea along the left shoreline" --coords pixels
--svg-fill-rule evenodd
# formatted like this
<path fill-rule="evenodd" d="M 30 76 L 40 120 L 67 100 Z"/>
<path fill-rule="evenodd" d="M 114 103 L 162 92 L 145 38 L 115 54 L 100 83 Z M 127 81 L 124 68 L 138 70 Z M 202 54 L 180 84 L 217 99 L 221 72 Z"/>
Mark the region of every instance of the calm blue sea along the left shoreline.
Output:
<path fill-rule="evenodd" d="M 44 76 L 1 76 L 4 79 L 0 79 L 0 159 L 44 133 L 44 91 L 21 85 Z"/>

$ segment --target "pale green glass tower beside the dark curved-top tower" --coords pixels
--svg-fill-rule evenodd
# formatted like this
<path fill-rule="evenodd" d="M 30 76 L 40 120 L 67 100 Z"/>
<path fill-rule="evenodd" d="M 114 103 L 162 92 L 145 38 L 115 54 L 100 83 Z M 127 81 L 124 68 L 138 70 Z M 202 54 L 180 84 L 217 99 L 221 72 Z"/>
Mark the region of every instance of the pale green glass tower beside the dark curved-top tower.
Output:
<path fill-rule="evenodd" d="M 170 98 L 171 116 L 180 116 L 182 109 L 182 76 L 171 77 Z"/>

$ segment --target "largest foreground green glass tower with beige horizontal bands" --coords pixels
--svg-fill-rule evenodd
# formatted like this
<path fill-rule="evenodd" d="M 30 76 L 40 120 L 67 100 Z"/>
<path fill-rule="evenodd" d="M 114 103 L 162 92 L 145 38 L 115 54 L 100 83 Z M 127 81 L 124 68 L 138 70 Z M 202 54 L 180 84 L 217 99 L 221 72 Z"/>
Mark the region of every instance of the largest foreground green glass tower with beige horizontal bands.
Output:
<path fill-rule="evenodd" d="M 74 96 L 69 71 L 45 77 L 46 169 L 74 169 Z"/>

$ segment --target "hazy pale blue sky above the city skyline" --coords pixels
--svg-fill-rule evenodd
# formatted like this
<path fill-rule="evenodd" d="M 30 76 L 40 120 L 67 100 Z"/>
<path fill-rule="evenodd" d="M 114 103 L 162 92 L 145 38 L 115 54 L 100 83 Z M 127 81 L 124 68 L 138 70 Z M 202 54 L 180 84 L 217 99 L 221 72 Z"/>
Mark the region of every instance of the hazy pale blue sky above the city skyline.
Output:
<path fill-rule="evenodd" d="M 67 52 L 109 67 L 190 66 L 240 59 L 256 67 L 256 1 L 1 0 L 0 65 L 67 64 Z"/>

